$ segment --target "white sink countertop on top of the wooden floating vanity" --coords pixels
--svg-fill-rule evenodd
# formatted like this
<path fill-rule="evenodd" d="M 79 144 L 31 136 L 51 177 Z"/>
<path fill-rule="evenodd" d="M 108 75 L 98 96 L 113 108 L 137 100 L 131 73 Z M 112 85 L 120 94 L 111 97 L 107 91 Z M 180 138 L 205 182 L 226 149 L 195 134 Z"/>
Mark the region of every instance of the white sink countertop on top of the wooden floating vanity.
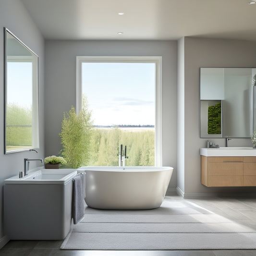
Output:
<path fill-rule="evenodd" d="M 200 155 L 205 157 L 256 157 L 252 147 L 200 148 Z"/>

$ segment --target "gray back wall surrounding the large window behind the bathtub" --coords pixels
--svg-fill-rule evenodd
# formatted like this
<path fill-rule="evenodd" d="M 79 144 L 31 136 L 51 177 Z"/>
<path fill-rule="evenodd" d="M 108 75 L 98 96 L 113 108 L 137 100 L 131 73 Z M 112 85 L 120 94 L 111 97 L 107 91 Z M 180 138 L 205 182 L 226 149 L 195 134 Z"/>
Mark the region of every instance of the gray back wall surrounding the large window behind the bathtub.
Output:
<path fill-rule="evenodd" d="M 63 112 L 75 106 L 76 56 L 162 56 L 163 165 L 174 167 L 170 187 L 176 188 L 177 42 L 47 40 L 45 51 L 46 155 L 61 150 Z"/>

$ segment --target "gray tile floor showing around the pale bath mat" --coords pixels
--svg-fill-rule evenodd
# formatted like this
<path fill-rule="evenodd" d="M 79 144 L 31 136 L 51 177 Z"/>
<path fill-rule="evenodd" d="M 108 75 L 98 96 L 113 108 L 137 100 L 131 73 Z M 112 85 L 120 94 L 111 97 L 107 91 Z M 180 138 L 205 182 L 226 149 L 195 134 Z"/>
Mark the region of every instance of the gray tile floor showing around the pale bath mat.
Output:
<path fill-rule="evenodd" d="M 216 214 L 256 230 L 256 196 L 183 199 L 207 208 Z M 256 250 L 178 250 L 178 251 L 83 251 L 60 250 L 62 241 L 10 241 L 1 250 L 5 256 L 256 256 Z"/>

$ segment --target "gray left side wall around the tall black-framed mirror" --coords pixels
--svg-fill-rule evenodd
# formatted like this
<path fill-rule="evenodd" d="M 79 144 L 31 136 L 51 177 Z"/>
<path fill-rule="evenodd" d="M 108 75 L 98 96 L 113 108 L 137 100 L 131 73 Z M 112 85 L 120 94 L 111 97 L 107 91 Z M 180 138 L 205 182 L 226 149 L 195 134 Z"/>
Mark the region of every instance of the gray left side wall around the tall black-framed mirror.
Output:
<path fill-rule="evenodd" d="M 37 53 L 39 57 L 39 139 L 40 149 L 38 154 L 35 152 L 19 152 L 4 155 L 4 130 L 3 130 L 3 100 L 4 100 L 4 85 L 3 85 L 3 42 L 4 33 L 3 27 L 7 27 L 12 33 L 21 39 L 30 49 Z M 0 246 L 6 241 L 3 232 L 3 194 L 2 186 L 4 180 L 17 175 L 23 170 L 24 158 L 44 158 L 44 39 L 41 36 L 36 25 L 33 23 L 28 12 L 24 8 L 20 0 L 0 0 Z M 31 167 L 36 167 L 35 163 L 31 162 Z"/>

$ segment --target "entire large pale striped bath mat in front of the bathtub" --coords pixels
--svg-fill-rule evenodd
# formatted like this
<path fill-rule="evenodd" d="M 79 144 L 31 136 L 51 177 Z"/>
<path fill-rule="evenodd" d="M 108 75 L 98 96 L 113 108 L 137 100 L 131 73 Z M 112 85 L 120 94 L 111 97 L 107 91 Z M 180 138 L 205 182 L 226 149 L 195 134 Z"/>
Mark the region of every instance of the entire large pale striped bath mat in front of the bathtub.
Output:
<path fill-rule="evenodd" d="M 68 234 L 61 249 L 256 249 L 256 231 L 193 203 L 164 200 L 152 210 L 97 210 Z"/>

